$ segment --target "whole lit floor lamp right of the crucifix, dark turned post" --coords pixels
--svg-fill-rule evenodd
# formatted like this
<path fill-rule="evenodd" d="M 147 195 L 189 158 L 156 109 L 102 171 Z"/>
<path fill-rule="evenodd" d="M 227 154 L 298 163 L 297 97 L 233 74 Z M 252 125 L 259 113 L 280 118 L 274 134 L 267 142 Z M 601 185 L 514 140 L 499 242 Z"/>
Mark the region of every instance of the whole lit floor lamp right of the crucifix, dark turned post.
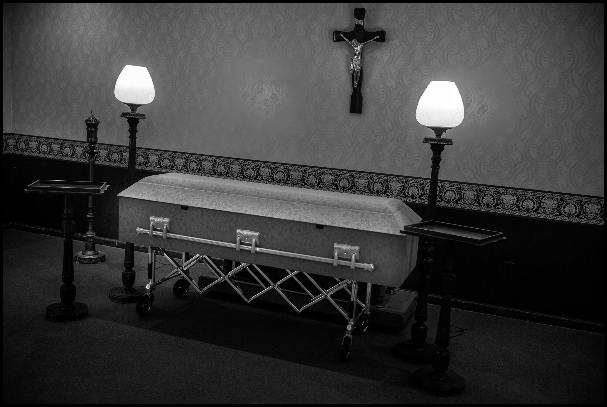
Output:
<path fill-rule="evenodd" d="M 464 104 L 455 83 L 447 81 L 432 81 L 419 98 L 415 118 L 435 134 L 435 137 L 425 137 L 423 143 L 430 144 L 432 150 L 432 175 L 430 176 L 430 191 L 428 207 L 424 221 L 434 220 L 436 209 L 436 193 L 438 191 L 438 169 L 441 162 L 441 152 L 446 145 L 452 145 L 450 139 L 441 135 L 448 129 L 464 120 Z M 411 339 L 395 345 L 395 353 L 405 361 L 415 364 L 431 364 L 436 346 L 426 343 L 428 327 L 428 280 L 432 271 L 434 240 L 422 238 L 422 261 L 420 265 L 418 300 L 415 307 L 415 323 L 411 327 Z"/>

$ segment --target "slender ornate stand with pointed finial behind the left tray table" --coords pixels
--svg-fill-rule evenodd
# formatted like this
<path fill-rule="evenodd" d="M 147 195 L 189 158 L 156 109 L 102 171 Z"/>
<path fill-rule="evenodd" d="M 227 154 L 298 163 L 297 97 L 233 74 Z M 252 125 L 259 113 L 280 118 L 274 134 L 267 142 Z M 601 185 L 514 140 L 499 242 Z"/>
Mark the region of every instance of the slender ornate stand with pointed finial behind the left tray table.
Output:
<path fill-rule="evenodd" d="M 93 168 L 95 166 L 95 159 L 97 158 L 98 149 L 97 146 L 97 126 L 99 126 L 99 120 L 93 116 L 93 111 L 90 111 L 90 117 L 84 120 L 86 123 L 86 142 L 89 143 L 89 149 L 86 152 L 89 156 L 89 181 L 93 182 Z M 77 263 L 93 264 L 106 261 L 106 253 L 98 251 L 95 248 L 95 231 L 93 230 L 93 219 L 95 219 L 95 212 L 93 211 L 93 195 L 89 195 L 89 213 L 86 217 L 89 219 L 89 229 L 86 231 L 86 243 L 84 244 L 84 250 L 74 254 L 74 260 Z"/>

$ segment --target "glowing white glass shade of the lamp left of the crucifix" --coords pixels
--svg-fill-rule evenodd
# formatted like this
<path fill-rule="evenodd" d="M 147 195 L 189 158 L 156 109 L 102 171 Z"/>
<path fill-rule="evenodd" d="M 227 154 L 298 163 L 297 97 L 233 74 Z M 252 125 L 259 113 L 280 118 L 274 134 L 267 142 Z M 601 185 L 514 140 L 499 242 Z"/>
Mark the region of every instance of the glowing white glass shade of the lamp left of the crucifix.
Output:
<path fill-rule="evenodd" d="M 154 83 L 146 67 L 124 66 L 114 88 L 114 96 L 118 100 L 126 104 L 148 104 L 155 95 Z"/>

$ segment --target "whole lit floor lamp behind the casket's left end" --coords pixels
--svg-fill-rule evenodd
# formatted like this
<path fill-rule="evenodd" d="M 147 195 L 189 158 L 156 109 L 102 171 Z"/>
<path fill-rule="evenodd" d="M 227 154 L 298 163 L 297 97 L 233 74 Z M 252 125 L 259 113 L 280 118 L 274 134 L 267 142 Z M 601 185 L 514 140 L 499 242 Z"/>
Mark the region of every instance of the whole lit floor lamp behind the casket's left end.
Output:
<path fill-rule="evenodd" d="M 126 183 L 128 188 L 135 183 L 137 124 L 140 118 L 146 118 L 143 113 L 137 113 L 137 108 L 150 103 L 156 95 L 148 69 L 143 66 L 124 66 L 116 81 L 114 95 L 131 109 L 130 112 L 123 112 L 120 115 L 120 117 L 126 117 L 126 121 L 129 123 L 129 170 Z M 134 265 L 134 246 L 131 242 L 127 242 L 124 248 L 124 271 L 122 272 L 124 287 L 114 287 L 109 292 L 109 298 L 115 303 L 136 303 L 143 295 L 143 292 L 133 287 L 133 284 L 135 284 Z"/>

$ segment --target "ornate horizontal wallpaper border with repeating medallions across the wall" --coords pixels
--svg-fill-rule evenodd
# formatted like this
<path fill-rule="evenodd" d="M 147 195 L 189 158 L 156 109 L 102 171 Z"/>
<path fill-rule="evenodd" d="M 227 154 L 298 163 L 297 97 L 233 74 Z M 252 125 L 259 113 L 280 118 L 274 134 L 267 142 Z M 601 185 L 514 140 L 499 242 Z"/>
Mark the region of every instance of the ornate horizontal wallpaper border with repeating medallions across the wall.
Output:
<path fill-rule="evenodd" d="M 85 142 L 22 134 L 3 134 L 3 154 L 26 154 L 41 158 L 87 162 Z M 128 164 L 126 146 L 98 143 L 97 163 Z M 385 196 L 404 202 L 427 202 L 428 179 L 341 169 L 287 165 L 138 148 L 137 169 L 161 173 L 185 173 L 290 185 L 315 190 Z M 605 199 L 546 191 L 522 190 L 463 182 L 438 183 L 437 205 L 466 210 L 527 216 L 554 221 L 605 225 Z"/>

